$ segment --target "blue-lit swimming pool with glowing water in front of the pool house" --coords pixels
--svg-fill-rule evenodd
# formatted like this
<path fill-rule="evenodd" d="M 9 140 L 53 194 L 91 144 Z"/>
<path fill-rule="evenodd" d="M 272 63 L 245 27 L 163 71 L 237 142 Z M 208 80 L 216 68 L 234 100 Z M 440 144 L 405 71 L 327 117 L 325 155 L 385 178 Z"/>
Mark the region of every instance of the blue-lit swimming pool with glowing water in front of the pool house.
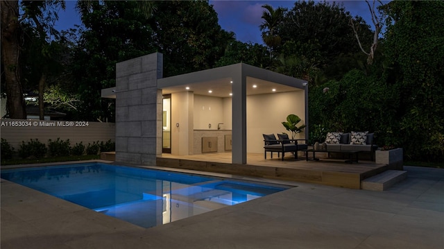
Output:
<path fill-rule="evenodd" d="M 103 163 L 2 169 L 1 178 L 141 227 L 154 227 L 289 189 Z"/>

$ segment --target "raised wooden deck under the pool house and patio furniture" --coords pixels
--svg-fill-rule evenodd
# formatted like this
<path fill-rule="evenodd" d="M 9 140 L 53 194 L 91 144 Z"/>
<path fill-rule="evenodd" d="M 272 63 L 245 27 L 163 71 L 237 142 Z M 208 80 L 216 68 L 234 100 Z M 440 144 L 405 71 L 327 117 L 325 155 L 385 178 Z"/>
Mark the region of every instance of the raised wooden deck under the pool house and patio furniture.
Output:
<path fill-rule="evenodd" d="M 248 153 L 247 164 L 232 164 L 231 153 L 204 153 L 200 155 L 162 154 L 157 157 L 157 166 L 176 169 L 191 169 L 232 175 L 246 175 L 295 182 L 311 182 L 350 189 L 361 189 L 361 181 L 388 170 L 386 164 L 359 160 L 347 164 L 345 160 L 334 160 L 327 155 L 316 154 L 320 161 L 305 161 L 300 155 L 295 160 L 287 155 L 284 161 L 274 153 L 273 159 L 262 153 Z"/>

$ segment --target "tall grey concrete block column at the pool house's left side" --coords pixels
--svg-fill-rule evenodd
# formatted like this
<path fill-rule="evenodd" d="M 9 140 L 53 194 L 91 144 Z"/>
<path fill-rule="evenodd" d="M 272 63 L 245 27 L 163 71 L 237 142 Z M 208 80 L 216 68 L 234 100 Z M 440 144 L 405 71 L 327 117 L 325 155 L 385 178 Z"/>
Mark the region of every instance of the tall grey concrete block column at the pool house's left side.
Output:
<path fill-rule="evenodd" d="M 162 128 L 162 116 L 157 113 L 162 110 L 162 99 L 157 99 L 162 68 L 162 53 L 116 65 L 116 162 L 155 165 L 162 153 L 162 143 L 157 142 L 162 140 L 162 132 L 157 131 Z"/>

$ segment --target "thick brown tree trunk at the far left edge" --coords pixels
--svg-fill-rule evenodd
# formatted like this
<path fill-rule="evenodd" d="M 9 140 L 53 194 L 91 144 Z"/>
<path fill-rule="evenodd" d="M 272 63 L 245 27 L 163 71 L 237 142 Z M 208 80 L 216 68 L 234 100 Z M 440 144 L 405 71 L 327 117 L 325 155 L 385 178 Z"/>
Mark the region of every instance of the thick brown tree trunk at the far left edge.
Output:
<path fill-rule="evenodd" d="M 19 1 L 2 0 L 0 2 L 1 52 L 6 78 L 6 108 L 11 119 L 26 119 L 19 67 Z"/>

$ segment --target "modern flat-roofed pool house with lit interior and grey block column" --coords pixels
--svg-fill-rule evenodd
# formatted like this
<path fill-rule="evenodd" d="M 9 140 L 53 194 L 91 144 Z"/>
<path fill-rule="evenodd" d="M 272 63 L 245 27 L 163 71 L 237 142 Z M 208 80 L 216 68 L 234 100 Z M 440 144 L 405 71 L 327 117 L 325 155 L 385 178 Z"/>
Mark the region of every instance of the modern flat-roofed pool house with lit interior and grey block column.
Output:
<path fill-rule="evenodd" d="M 117 63 L 116 162 L 155 165 L 162 153 L 264 153 L 262 134 L 286 132 L 296 114 L 308 126 L 307 82 L 244 63 L 163 78 L 163 55 Z M 308 138 L 308 128 L 298 134 Z"/>

